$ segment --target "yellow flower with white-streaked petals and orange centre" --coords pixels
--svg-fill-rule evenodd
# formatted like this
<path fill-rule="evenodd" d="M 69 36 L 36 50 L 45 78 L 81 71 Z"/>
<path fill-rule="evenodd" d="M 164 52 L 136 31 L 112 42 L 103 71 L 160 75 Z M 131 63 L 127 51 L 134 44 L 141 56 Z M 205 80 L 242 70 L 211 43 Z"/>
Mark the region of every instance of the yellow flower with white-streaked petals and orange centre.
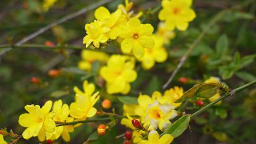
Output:
<path fill-rule="evenodd" d="M 135 109 L 135 113 L 141 117 L 146 127 L 149 126 L 149 130 L 156 130 L 159 127 L 161 131 L 165 131 L 171 125 L 169 120 L 177 116 L 174 106 L 160 101 L 161 93 L 158 91 L 152 94 L 152 98 L 148 95 L 138 97 L 139 106 Z"/>

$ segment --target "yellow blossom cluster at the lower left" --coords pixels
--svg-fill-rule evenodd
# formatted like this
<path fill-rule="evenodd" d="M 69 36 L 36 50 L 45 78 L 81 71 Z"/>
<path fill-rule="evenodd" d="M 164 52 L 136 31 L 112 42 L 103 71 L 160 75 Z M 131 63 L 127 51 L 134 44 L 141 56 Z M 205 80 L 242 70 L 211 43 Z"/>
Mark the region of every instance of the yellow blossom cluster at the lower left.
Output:
<path fill-rule="evenodd" d="M 73 122 L 76 120 L 85 120 L 87 117 L 93 117 L 96 114 L 96 108 L 93 105 L 100 98 L 99 92 L 94 92 L 94 84 L 83 82 L 84 92 L 74 87 L 75 102 L 71 103 L 70 108 L 63 104 L 62 100 L 54 102 L 46 101 L 41 108 L 39 105 L 27 105 L 25 109 L 28 113 L 19 116 L 19 125 L 26 127 L 22 136 L 24 139 L 38 137 L 39 141 L 56 140 L 60 136 L 64 141 L 70 141 L 69 133 L 74 131 L 78 125 L 56 126 L 55 122 Z M 70 117 L 69 117 L 70 116 Z M 1 137 L 0 137 L 1 138 Z"/>

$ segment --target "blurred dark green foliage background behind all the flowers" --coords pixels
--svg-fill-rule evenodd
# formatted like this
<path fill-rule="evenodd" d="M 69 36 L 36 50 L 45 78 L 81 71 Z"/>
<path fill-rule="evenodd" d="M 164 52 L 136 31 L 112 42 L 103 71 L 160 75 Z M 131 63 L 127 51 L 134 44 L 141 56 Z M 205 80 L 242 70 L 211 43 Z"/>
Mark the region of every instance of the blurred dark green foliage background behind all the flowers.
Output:
<path fill-rule="evenodd" d="M 57 0 L 48 11 L 43 10 L 43 0 L 1 0 L 0 2 L 0 44 L 15 44 L 39 28 L 51 24 L 59 18 L 79 9 L 90 6 L 98 0 Z M 133 0 L 134 10 L 146 11 L 160 2 L 157 0 Z M 202 29 L 221 10 L 229 9 L 247 0 L 194 0 L 193 9 L 197 18 L 190 23 L 187 31 L 175 31 L 176 36 L 166 46 L 168 60 L 158 63 L 150 71 L 144 71 L 140 63 L 136 70 L 138 77 L 132 83 L 129 96 L 137 97 L 138 92 L 151 95 L 153 91 L 163 92 L 162 85 L 171 75 L 180 57 L 200 35 Z M 113 0 L 105 6 L 114 11 L 123 0 Z M 85 36 L 84 25 L 93 21 L 93 10 L 57 25 L 26 44 L 42 44 L 52 41 L 55 45 L 82 45 Z M 175 76 L 171 86 L 181 86 L 188 90 L 195 83 L 203 82 L 210 76 L 217 76 L 229 87 L 236 88 L 256 79 L 256 2 L 243 9 L 233 10 L 224 15 L 203 37 L 193 50 L 183 68 Z M 145 23 L 158 24 L 157 15 L 150 16 Z M 106 49 L 118 49 L 111 43 Z M 1 48 L 0 53 L 5 49 Z M 18 116 L 25 112 L 27 104 L 42 105 L 48 99 L 62 99 L 70 104 L 74 99 L 73 86 L 82 87 L 82 81 L 99 84 L 98 76 L 78 70 L 81 60 L 80 50 L 17 48 L 0 55 L 0 128 L 5 126 L 15 133 L 24 130 L 18 125 Z M 55 63 L 56 62 L 56 63 Z M 58 77 L 51 77 L 51 69 L 62 70 Z M 94 64 L 95 73 L 99 65 Z M 31 77 L 39 77 L 41 85 L 31 83 Z M 180 77 L 190 79 L 188 84 L 178 81 Z M 100 90 L 100 87 L 98 87 Z M 102 96 L 108 98 L 108 96 Z M 112 107 L 122 114 L 122 103 L 112 99 Z M 100 106 L 99 101 L 96 104 Z M 190 107 L 193 107 L 190 106 Z M 194 107 L 195 108 L 195 107 Z M 195 109 L 187 110 L 192 113 Z M 69 144 L 82 144 L 97 128 L 97 123 L 85 124 L 72 133 Z M 190 123 L 192 132 L 187 130 L 174 140 L 173 144 L 256 144 L 256 87 L 244 90 L 234 97 L 225 99 L 220 106 L 214 106 Z M 92 144 L 122 144 L 115 136 L 124 133 L 126 128 L 118 124 L 107 135 Z M 223 138 L 224 137 L 224 138 Z M 222 139 L 221 139 L 222 138 Z M 60 144 L 66 144 L 58 140 Z M 37 138 L 18 144 L 38 144 Z"/>

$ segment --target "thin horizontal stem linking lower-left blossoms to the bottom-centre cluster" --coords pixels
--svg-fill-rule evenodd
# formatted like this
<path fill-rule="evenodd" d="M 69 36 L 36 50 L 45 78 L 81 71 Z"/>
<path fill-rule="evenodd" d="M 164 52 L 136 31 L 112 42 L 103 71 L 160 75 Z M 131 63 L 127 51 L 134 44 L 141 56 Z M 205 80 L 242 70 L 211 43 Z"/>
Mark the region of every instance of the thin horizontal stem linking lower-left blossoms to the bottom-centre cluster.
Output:
<path fill-rule="evenodd" d="M 137 116 L 131 116 L 131 117 L 137 117 Z M 90 123 L 90 122 L 97 122 L 97 121 L 107 121 L 107 120 L 110 120 L 110 119 L 121 119 L 121 118 L 127 118 L 127 116 L 113 116 L 113 117 L 95 118 L 95 119 L 88 119 L 88 120 L 81 120 L 81 121 L 73 121 L 73 122 L 69 122 L 69 123 L 56 122 L 56 124 L 57 124 L 57 126 L 66 126 L 66 125 Z"/>

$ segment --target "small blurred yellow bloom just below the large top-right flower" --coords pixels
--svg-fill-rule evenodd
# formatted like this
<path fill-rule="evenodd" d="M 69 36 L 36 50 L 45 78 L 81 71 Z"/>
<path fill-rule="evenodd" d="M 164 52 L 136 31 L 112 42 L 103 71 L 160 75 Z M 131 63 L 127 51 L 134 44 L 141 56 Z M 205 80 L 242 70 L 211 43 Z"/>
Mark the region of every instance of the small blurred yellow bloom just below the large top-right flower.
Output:
<path fill-rule="evenodd" d="M 165 44 L 170 43 L 170 39 L 173 39 L 175 37 L 174 31 L 168 30 L 164 22 L 159 22 L 156 36 L 164 38 Z"/>

